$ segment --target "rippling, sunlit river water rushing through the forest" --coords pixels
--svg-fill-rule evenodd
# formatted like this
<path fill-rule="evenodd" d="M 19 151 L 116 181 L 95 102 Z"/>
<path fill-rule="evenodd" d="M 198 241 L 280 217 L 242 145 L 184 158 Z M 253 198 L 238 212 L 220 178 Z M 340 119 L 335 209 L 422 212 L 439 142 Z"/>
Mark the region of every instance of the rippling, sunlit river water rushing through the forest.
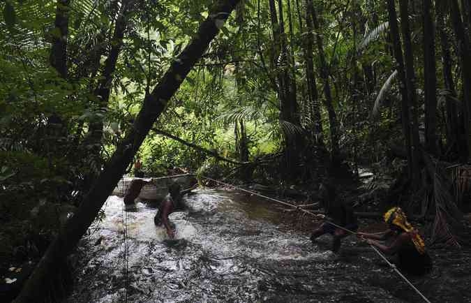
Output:
<path fill-rule="evenodd" d="M 168 240 L 154 226 L 156 209 L 125 211 L 111 196 L 80 244 L 68 302 L 421 302 L 353 237 L 336 255 L 328 236 L 311 244 L 253 197 L 200 189 L 185 202 L 187 211 L 170 215 L 177 239 Z M 470 302 L 469 256 L 412 281 L 432 302 Z"/>

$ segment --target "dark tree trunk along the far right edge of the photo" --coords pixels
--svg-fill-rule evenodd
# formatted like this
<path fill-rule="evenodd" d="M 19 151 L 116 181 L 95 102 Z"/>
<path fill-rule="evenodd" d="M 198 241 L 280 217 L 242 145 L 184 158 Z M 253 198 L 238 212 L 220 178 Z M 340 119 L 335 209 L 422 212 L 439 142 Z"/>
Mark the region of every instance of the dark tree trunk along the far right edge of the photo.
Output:
<path fill-rule="evenodd" d="M 462 153 L 462 160 L 467 161 L 471 152 L 471 58 L 470 42 L 465 34 L 463 21 L 461 20 L 460 8 L 457 0 L 450 0 L 450 14 L 453 28 L 456 35 L 457 53 L 461 61 L 461 71 L 463 75 L 463 124 L 465 130 L 465 146 L 467 150 Z"/>

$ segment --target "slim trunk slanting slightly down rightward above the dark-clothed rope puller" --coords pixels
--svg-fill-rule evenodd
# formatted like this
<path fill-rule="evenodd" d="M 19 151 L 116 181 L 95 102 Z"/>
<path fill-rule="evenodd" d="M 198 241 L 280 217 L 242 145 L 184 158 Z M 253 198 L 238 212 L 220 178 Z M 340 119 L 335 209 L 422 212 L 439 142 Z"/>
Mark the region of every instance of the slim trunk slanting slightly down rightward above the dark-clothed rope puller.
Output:
<path fill-rule="evenodd" d="M 317 20 L 317 14 L 315 13 L 315 8 L 313 6 L 312 0 L 309 1 L 309 8 L 311 17 L 313 18 L 313 27 L 315 29 L 315 40 L 317 44 L 317 51 L 319 52 L 320 59 L 320 75 L 324 81 L 324 105 L 329 112 L 329 124 L 330 124 L 330 139 L 331 139 L 331 157 L 332 165 L 338 166 L 341 163 L 340 156 L 340 147 L 338 145 L 339 135 L 338 135 L 338 121 L 337 115 L 334 110 L 334 101 L 332 100 L 332 92 L 329 84 L 329 66 L 327 60 L 325 59 L 324 45 L 322 43 L 322 36 L 320 35 L 320 25 Z"/>

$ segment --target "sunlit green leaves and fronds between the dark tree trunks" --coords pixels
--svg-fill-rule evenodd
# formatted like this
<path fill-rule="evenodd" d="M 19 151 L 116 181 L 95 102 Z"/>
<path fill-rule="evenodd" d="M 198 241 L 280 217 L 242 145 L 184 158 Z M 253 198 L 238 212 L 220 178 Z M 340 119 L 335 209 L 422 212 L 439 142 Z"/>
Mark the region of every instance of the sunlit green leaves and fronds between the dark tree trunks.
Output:
<path fill-rule="evenodd" d="M 197 34 L 213 2 L 130 1 L 133 6 L 126 13 L 121 52 L 106 84 L 111 89 L 106 104 L 100 101 L 97 88 L 110 49 L 119 43 L 112 36 L 120 1 L 70 1 L 65 79 L 50 61 L 52 38 L 60 34 L 54 27 L 56 1 L 0 3 L 0 182 L 6 186 L 1 205 L 8 208 L 8 220 L 29 219 L 40 201 L 45 201 L 48 214 L 63 203 L 80 203 L 103 163 L 133 127 L 144 96 Z M 276 50 L 281 41 L 274 40 L 274 29 L 281 28 L 271 24 L 268 1 L 243 1 L 234 16 L 219 24 L 220 33 L 154 128 L 226 158 L 237 160 L 246 153 L 248 161 L 269 159 L 264 168 L 256 168 L 254 176 L 277 177 L 281 175 L 278 156 L 291 138 L 303 139 L 302 152 L 296 155 L 300 167 L 315 163 L 306 160 L 313 157 L 313 142 L 322 138 L 323 146 L 332 145 L 324 71 L 345 161 L 378 161 L 391 142 L 402 144 L 399 103 L 387 102 L 397 98 L 398 85 L 393 85 L 396 73 L 391 75 L 391 71 L 396 66 L 384 39 L 389 29 L 384 3 L 313 1 L 320 23 L 315 34 L 322 38 L 327 66 L 320 65 L 320 51 L 314 44 L 315 71 L 308 75 L 305 3 L 291 1 L 288 10 L 287 2 L 282 2 L 283 54 Z M 416 33 L 415 63 L 417 71 L 423 71 L 418 51 L 421 24 L 417 16 L 411 20 Z M 451 32 L 449 24 L 446 30 Z M 457 59 L 454 53 L 452 57 Z M 453 77 L 458 80 L 456 87 L 462 87 L 457 66 L 452 64 Z M 442 76 L 441 67 L 438 74 Z M 418 75 L 417 83 L 422 84 Z M 310 94 L 309 77 L 316 80 L 317 94 Z M 288 101 L 282 98 L 287 87 L 296 92 Z M 463 108 L 451 91 L 438 92 L 440 107 L 453 101 L 458 110 Z M 310 100 L 311 95 L 316 95 L 315 100 Z M 281 118 L 286 105 L 295 119 Z M 320 121 L 314 105 L 320 108 Z M 378 119 L 371 119 L 372 110 Z M 322 134 L 313 131 L 317 122 Z M 93 140 L 96 124 L 103 126 L 103 134 Z M 144 140 L 139 154 L 147 175 L 165 175 L 181 167 L 223 177 L 234 169 L 154 132 Z M 21 194 L 12 195 L 16 192 Z"/>

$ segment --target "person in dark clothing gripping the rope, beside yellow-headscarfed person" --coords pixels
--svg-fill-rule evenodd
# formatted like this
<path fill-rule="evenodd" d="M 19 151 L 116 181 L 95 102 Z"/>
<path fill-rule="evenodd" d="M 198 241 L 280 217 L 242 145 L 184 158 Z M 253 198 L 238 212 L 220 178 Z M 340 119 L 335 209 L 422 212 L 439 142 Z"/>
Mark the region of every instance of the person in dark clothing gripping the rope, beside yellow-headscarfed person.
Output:
<path fill-rule="evenodd" d="M 329 182 L 322 182 L 319 187 L 321 204 L 325 209 L 329 220 L 313 231 L 311 241 L 314 243 L 317 237 L 324 234 L 331 234 L 334 237 L 332 241 L 332 251 L 337 252 L 341 246 L 341 239 L 351 235 L 347 230 L 356 231 L 358 229 L 357 217 L 353 213 L 353 207 L 350 202 L 341 200 L 336 194 L 336 188 Z M 343 227 L 343 228 L 339 228 Z"/>

